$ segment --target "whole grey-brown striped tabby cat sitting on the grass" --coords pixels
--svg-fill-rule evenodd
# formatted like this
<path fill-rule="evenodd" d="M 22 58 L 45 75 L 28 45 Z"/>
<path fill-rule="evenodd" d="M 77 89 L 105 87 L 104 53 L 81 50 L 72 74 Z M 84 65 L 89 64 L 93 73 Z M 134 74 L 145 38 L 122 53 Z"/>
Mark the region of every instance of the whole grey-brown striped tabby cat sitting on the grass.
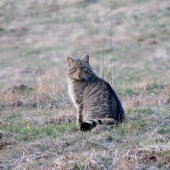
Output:
<path fill-rule="evenodd" d="M 80 130 L 124 122 L 125 113 L 117 94 L 108 82 L 92 71 L 89 55 L 82 59 L 67 57 L 67 63 L 68 89 L 77 109 Z"/>

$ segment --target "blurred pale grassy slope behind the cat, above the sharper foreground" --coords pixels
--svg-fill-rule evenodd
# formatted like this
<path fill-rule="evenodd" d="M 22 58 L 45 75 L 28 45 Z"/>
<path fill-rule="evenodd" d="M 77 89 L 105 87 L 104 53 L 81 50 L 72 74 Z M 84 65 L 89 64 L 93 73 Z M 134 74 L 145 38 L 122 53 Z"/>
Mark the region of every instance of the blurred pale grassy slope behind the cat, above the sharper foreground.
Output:
<path fill-rule="evenodd" d="M 86 53 L 113 85 L 167 78 L 168 0 L 1 0 L 0 89 L 66 81 L 66 57 Z"/>

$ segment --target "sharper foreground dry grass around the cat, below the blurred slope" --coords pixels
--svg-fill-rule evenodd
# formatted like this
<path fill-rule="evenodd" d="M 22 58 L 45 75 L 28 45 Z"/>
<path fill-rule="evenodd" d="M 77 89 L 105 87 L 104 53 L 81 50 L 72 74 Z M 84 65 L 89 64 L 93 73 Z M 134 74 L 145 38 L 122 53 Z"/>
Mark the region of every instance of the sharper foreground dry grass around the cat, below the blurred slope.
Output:
<path fill-rule="evenodd" d="M 56 91 L 48 91 L 53 88 L 48 80 L 48 84 L 42 83 L 33 91 L 10 90 L 4 94 L 8 98 L 1 105 L 1 167 L 168 168 L 169 84 L 153 81 L 126 89 L 119 86 L 117 92 L 130 121 L 106 131 L 82 133 L 63 87 L 57 84 Z M 9 104 L 16 96 L 24 104 Z"/>

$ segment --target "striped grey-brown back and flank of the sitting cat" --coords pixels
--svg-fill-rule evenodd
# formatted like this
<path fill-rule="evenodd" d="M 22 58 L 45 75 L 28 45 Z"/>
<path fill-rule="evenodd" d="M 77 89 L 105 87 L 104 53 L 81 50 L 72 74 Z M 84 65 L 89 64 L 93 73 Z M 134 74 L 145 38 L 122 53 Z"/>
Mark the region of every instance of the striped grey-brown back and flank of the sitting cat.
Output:
<path fill-rule="evenodd" d="M 83 94 L 83 113 L 86 120 L 93 118 L 118 119 L 123 108 L 116 93 L 109 83 L 95 77 L 86 87 Z"/>

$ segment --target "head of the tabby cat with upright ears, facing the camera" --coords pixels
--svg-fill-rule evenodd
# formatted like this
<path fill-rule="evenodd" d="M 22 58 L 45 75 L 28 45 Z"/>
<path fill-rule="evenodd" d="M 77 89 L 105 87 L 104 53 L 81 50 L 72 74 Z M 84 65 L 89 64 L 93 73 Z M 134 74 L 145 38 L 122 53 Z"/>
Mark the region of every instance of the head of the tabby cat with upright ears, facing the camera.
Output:
<path fill-rule="evenodd" d="M 89 65 L 89 55 L 86 54 L 82 59 L 73 59 L 67 57 L 68 77 L 76 80 L 86 80 L 92 74 L 92 69 Z"/>

